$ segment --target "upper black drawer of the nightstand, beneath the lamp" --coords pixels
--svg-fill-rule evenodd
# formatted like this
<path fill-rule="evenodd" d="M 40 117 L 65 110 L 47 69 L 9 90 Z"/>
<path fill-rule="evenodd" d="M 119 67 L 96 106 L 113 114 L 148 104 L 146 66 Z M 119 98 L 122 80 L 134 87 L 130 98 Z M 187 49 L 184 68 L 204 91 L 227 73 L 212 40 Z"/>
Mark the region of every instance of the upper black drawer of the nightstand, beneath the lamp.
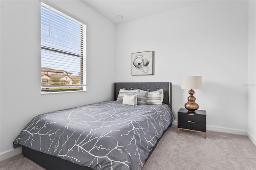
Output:
<path fill-rule="evenodd" d="M 199 115 L 196 113 L 181 113 L 178 112 L 178 120 L 193 121 L 196 123 L 206 123 L 206 115 Z"/>

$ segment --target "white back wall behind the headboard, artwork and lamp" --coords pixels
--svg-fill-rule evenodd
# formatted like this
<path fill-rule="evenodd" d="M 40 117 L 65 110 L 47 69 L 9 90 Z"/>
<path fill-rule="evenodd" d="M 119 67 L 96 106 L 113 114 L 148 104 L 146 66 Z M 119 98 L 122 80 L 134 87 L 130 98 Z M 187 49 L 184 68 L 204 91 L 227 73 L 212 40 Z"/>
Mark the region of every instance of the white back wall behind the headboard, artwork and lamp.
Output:
<path fill-rule="evenodd" d="M 187 102 L 182 76 L 201 75 L 195 90 L 207 129 L 247 133 L 248 2 L 210 1 L 116 26 L 116 81 L 172 82 L 172 107 Z M 154 75 L 131 75 L 131 53 L 154 51 Z M 255 103 L 254 103 L 255 105 Z M 177 121 L 177 120 L 176 120 Z M 176 122 L 177 123 L 177 122 Z"/>

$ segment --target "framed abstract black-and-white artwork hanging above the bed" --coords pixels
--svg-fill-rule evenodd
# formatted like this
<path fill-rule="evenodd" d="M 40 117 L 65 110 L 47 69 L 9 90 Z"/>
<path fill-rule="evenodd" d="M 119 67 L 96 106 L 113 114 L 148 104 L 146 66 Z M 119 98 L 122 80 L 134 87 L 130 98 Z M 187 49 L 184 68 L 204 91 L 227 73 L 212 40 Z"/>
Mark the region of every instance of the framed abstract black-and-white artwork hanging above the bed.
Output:
<path fill-rule="evenodd" d="M 132 53 L 132 75 L 153 75 L 154 51 Z"/>

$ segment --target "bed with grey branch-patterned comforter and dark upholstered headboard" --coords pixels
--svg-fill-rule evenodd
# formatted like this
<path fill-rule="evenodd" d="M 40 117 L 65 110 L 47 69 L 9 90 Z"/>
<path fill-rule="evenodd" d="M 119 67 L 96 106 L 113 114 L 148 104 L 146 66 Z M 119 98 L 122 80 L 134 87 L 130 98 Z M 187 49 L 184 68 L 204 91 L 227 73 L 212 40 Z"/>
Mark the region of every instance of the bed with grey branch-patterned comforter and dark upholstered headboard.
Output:
<path fill-rule="evenodd" d="M 171 83 L 113 87 L 113 101 L 34 117 L 14 140 L 14 148 L 22 145 L 25 157 L 48 170 L 141 170 L 174 120 Z M 136 99 L 141 95 L 137 91 L 144 95 L 161 91 L 162 105 L 122 104 L 120 91 L 126 90 L 136 91 L 128 95 Z M 124 103 L 127 95 L 123 97 Z"/>

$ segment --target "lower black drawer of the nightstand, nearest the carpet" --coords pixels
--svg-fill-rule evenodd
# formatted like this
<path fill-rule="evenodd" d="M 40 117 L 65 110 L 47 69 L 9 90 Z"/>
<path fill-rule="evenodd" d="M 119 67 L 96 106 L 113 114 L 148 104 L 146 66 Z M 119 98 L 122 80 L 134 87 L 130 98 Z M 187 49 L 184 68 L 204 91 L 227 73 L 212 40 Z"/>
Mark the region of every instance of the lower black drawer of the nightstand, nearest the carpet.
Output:
<path fill-rule="evenodd" d="M 180 117 L 178 117 L 178 128 L 186 128 L 190 130 L 197 130 L 197 131 L 202 131 L 206 132 L 206 124 L 205 123 L 197 123 L 194 121 L 183 121 L 180 120 Z"/>

